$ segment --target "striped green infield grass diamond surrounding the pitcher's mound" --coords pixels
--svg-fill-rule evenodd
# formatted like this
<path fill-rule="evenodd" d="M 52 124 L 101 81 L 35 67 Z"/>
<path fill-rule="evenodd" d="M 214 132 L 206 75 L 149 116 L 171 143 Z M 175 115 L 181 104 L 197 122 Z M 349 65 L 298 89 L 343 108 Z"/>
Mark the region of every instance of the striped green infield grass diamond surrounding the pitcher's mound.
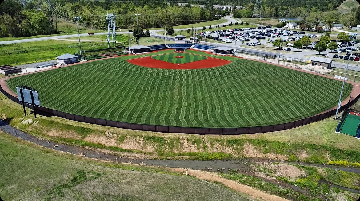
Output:
<path fill-rule="evenodd" d="M 176 58 L 176 57 L 182 57 L 182 58 Z M 152 59 L 157 59 L 160 61 L 166 61 L 173 64 L 186 64 L 193 61 L 201 61 L 204 59 L 207 59 L 207 57 L 200 56 L 200 55 L 193 55 L 188 53 L 170 53 L 170 54 L 164 54 L 164 55 L 156 55 L 152 56 Z"/>

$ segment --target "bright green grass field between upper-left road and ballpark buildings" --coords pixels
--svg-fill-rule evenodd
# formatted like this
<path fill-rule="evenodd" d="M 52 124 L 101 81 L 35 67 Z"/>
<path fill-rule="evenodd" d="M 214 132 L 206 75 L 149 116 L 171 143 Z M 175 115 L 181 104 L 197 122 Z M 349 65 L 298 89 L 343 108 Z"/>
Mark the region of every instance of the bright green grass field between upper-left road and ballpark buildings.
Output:
<path fill-rule="evenodd" d="M 81 42 L 82 50 L 107 48 L 106 42 Z M 78 41 L 46 40 L 0 45 L 0 65 L 19 65 L 54 60 L 64 53 L 77 53 Z"/>

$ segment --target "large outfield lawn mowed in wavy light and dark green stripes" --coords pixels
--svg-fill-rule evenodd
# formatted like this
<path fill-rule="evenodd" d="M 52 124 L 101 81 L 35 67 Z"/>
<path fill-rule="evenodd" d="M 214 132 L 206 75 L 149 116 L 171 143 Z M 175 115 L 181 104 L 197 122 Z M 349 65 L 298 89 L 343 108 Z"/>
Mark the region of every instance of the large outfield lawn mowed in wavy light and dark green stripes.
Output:
<path fill-rule="evenodd" d="M 294 121 L 333 107 L 342 83 L 250 60 L 167 70 L 135 66 L 120 57 L 12 78 L 8 84 L 12 90 L 33 87 L 43 106 L 73 114 L 157 125 L 246 127 Z M 345 85 L 343 97 L 351 88 Z"/>

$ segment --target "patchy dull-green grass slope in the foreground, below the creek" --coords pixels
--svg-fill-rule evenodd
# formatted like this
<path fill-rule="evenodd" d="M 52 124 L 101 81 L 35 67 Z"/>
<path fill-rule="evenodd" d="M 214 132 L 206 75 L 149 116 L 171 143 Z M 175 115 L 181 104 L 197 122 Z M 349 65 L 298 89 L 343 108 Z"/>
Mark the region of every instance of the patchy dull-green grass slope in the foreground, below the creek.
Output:
<path fill-rule="evenodd" d="M 80 158 L 2 132 L 0 147 L 3 200 L 252 200 L 244 193 L 165 168 Z"/>

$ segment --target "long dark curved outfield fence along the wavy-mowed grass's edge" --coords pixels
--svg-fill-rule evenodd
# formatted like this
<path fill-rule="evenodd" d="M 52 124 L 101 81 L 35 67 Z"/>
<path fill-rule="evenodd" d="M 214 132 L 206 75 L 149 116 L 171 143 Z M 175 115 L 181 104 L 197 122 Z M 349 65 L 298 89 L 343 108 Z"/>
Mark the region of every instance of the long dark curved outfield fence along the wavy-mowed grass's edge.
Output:
<path fill-rule="evenodd" d="M 6 97 L 14 101 L 15 103 L 22 104 L 19 102 L 18 98 L 6 92 L 0 85 L 0 92 L 3 93 Z M 350 106 L 354 105 L 360 98 L 360 94 L 352 98 L 347 104 L 341 106 L 339 111 L 347 110 Z M 112 121 L 105 120 L 102 118 L 94 118 L 94 117 L 86 117 L 77 114 L 71 114 L 66 112 L 57 111 L 54 109 L 46 108 L 46 107 L 38 107 L 35 108 L 31 104 L 25 103 L 25 106 L 34 109 L 37 114 L 44 116 L 57 116 L 66 118 L 68 120 L 80 121 L 85 123 L 92 123 L 102 126 L 111 126 L 118 128 L 125 128 L 131 130 L 143 130 L 143 131 L 154 131 L 154 132 L 172 132 L 172 133 L 183 133 L 183 134 L 199 134 L 199 135 L 207 135 L 207 134 L 215 134 L 215 135 L 239 135 L 239 134 L 256 134 L 263 132 L 273 132 L 273 131 L 282 131 L 288 130 L 290 128 L 295 128 L 298 126 L 306 125 L 312 122 L 324 120 L 331 116 L 334 116 L 336 113 L 336 109 L 330 109 L 323 113 L 303 118 L 301 120 L 292 121 L 288 123 L 276 124 L 276 125 L 267 125 L 267 126 L 255 126 L 255 127 L 241 127 L 241 128 L 195 128 L 195 127 L 179 127 L 179 126 L 163 126 L 163 125 L 147 125 L 141 123 L 128 123 L 121 121 Z"/>

